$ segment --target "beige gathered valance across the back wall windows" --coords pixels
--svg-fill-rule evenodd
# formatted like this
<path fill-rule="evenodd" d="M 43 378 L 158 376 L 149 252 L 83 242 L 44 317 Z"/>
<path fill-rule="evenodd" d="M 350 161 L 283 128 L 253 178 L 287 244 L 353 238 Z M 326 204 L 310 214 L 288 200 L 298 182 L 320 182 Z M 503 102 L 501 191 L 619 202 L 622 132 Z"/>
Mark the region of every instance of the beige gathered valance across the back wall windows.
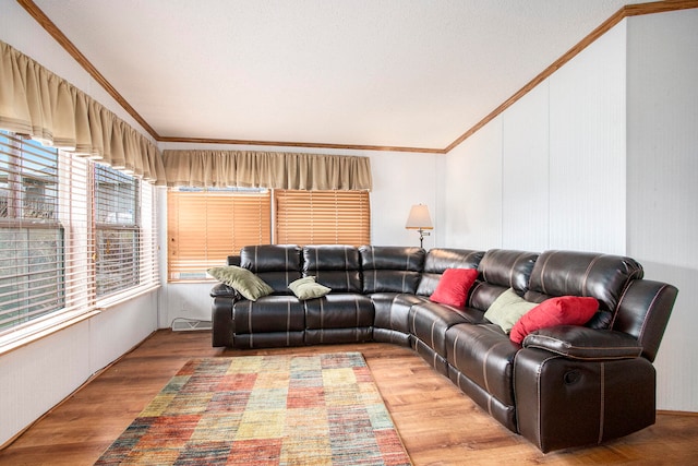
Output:
<path fill-rule="evenodd" d="M 369 157 L 244 151 L 163 151 L 170 187 L 371 190 Z"/>

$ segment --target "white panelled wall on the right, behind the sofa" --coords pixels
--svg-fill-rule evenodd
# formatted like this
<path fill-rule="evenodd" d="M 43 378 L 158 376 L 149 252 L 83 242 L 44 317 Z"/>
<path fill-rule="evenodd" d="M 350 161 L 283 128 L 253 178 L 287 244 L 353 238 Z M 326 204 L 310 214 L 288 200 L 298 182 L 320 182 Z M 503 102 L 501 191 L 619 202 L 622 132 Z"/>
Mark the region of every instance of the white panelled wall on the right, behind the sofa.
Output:
<path fill-rule="evenodd" d="M 698 410 L 697 31 L 696 10 L 619 23 L 447 156 L 441 210 L 448 246 L 627 254 L 676 285 L 658 408 L 687 411 Z"/>

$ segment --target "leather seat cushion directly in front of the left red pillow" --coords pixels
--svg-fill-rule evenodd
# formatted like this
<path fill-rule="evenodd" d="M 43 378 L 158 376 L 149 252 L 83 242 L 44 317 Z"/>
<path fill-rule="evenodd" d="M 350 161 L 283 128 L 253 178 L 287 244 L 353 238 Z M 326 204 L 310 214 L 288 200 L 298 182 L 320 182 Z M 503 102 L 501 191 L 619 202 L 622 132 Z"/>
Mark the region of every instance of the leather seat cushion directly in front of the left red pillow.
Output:
<path fill-rule="evenodd" d="M 443 357 L 446 356 L 446 330 L 465 322 L 482 323 L 484 313 L 431 301 L 418 302 L 410 308 L 410 333 Z"/>

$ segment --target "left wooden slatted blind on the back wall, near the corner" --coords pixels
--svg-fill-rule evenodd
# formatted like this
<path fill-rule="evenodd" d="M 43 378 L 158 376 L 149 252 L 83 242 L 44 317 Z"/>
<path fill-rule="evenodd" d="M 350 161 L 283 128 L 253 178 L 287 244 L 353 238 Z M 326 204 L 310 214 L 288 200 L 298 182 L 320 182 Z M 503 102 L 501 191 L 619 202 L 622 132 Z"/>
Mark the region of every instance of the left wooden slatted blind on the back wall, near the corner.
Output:
<path fill-rule="evenodd" d="M 204 279 L 243 246 L 270 243 L 268 190 L 170 189 L 167 201 L 169 280 Z"/>

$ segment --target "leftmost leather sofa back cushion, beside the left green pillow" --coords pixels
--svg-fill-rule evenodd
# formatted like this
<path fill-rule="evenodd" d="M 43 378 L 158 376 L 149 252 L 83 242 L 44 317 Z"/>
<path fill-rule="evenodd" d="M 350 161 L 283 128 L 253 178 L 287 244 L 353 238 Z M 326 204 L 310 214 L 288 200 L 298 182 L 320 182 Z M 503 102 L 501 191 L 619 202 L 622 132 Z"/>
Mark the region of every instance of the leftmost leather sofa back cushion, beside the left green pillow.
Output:
<path fill-rule="evenodd" d="M 301 277 L 301 248 L 294 244 L 245 246 L 240 250 L 240 266 L 254 272 L 275 292 L 288 294 L 288 285 Z"/>

